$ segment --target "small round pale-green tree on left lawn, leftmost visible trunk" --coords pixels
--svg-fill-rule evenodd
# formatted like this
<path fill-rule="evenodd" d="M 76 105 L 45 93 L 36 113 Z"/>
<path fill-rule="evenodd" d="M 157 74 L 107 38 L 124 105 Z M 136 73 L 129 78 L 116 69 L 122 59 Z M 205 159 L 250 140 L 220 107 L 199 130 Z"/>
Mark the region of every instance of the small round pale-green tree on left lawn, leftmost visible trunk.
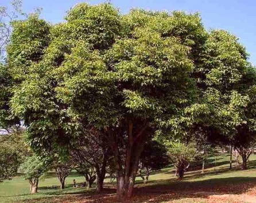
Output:
<path fill-rule="evenodd" d="M 31 193 L 37 193 L 39 178 L 46 170 L 47 164 L 35 155 L 27 157 L 20 165 L 19 171 L 24 174 L 25 179 L 28 179 Z"/>

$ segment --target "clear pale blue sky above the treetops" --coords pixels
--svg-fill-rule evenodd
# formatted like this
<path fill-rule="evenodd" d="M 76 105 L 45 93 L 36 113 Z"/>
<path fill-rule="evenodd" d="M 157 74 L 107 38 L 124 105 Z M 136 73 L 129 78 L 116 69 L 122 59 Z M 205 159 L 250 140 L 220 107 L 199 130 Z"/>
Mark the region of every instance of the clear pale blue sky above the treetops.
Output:
<path fill-rule="evenodd" d="M 6 6 L 10 0 L 0 0 Z M 61 22 L 66 11 L 79 0 L 23 0 L 26 12 L 34 7 L 41 7 L 41 17 L 52 22 Z M 101 0 L 86 1 L 91 4 L 104 2 Z M 184 10 L 189 13 L 198 11 L 207 29 L 226 29 L 240 38 L 250 61 L 256 65 L 256 1 L 254 0 L 111 0 L 122 13 L 132 7 L 150 10 Z"/>

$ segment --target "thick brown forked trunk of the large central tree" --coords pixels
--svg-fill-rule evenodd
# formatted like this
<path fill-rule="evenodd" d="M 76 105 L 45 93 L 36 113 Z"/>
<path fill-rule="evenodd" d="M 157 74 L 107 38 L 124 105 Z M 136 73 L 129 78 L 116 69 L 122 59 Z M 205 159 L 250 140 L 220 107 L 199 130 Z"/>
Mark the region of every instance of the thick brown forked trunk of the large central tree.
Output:
<path fill-rule="evenodd" d="M 151 132 L 149 131 L 147 133 L 146 128 L 147 123 L 145 120 L 139 122 L 137 121 L 137 125 L 134 126 L 133 119 L 127 119 L 127 139 L 120 137 L 117 138 L 117 133 L 115 133 L 115 131 L 111 128 L 108 129 L 110 147 L 113 150 L 116 163 L 117 196 L 118 200 L 120 201 L 125 198 L 130 198 L 133 194 L 135 175 L 138 171 L 139 157 L 141 156 L 143 150 L 143 143 L 145 142 L 149 132 Z M 151 130 L 151 128 L 149 129 Z M 122 151 L 119 151 L 120 143 L 125 143 L 126 145 L 125 154 L 122 154 Z"/>

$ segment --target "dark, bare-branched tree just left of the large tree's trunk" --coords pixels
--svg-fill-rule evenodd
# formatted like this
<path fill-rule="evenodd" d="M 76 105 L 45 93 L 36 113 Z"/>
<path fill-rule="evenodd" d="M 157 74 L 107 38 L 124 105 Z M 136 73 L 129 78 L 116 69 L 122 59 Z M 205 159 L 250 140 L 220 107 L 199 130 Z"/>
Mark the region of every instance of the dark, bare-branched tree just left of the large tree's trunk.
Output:
<path fill-rule="evenodd" d="M 106 141 L 107 137 L 104 132 L 91 128 L 74 140 L 71 150 L 76 170 L 85 176 L 89 188 L 95 180 L 96 173 L 96 190 L 98 192 L 103 189 L 106 167 L 111 155 Z M 82 169 L 83 166 L 84 169 Z"/>

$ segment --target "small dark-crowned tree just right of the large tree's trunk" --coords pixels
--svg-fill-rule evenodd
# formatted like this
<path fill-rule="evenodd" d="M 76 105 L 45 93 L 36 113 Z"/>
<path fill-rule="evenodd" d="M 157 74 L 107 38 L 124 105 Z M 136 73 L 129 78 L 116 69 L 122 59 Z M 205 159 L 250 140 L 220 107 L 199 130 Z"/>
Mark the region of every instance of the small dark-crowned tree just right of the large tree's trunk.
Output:
<path fill-rule="evenodd" d="M 144 184 L 148 182 L 149 174 L 153 170 L 160 170 L 169 163 L 170 160 L 165 145 L 158 143 L 156 140 L 146 142 L 139 159 L 139 175 Z"/>

